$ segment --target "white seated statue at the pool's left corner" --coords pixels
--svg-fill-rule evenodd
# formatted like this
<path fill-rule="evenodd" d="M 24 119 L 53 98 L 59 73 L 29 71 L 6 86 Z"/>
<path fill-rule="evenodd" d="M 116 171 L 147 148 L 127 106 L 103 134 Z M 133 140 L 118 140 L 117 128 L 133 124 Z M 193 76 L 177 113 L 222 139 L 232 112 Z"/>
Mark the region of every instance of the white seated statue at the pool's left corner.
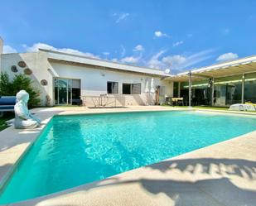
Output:
<path fill-rule="evenodd" d="M 16 129 L 31 129 L 38 127 L 41 120 L 33 116 L 27 108 L 29 94 L 25 90 L 21 90 L 16 94 L 16 98 L 17 103 L 14 106 L 14 127 Z"/>

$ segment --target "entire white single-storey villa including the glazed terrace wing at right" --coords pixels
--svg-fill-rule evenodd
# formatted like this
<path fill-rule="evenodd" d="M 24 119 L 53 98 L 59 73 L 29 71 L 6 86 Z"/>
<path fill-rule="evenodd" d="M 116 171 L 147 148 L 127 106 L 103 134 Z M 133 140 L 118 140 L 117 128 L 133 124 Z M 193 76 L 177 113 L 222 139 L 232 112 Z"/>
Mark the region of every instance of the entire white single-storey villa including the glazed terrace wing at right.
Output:
<path fill-rule="evenodd" d="M 41 106 L 77 104 L 80 99 L 88 107 L 154 105 L 167 97 L 184 98 L 187 105 L 256 102 L 256 56 L 171 75 L 56 50 L 2 54 L 0 49 L 0 54 L 0 71 L 11 78 L 30 76 L 41 91 Z"/>

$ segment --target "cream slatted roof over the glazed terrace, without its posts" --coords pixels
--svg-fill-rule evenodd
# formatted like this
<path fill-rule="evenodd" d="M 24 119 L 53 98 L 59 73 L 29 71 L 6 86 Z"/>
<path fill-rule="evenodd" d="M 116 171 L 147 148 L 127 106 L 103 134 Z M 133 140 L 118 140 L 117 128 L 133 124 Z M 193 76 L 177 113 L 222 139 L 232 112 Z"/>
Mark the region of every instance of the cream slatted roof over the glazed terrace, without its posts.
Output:
<path fill-rule="evenodd" d="M 191 69 L 192 80 L 202 80 L 209 78 L 218 78 L 231 76 L 236 74 L 248 74 L 256 72 L 256 55 L 245 58 L 225 61 L 215 65 L 205 66 L 199 69 Z M 188 73 L 190 71 L 182 72 L 173 75 L 168 79 L 177 82 L 188 81 Z"/>

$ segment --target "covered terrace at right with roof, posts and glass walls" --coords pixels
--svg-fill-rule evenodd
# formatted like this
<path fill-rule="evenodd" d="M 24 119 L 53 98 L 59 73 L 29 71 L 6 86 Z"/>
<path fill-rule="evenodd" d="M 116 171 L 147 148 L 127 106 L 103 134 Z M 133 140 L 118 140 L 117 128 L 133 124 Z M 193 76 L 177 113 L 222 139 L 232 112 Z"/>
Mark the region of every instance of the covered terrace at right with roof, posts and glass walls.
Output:
<path fill-rule="evenodd" d="M 191 69 L 168 79 L 174 82 L 173 97 L 183 97 L 190 107 L 256 103 L 256 55 Z"/>

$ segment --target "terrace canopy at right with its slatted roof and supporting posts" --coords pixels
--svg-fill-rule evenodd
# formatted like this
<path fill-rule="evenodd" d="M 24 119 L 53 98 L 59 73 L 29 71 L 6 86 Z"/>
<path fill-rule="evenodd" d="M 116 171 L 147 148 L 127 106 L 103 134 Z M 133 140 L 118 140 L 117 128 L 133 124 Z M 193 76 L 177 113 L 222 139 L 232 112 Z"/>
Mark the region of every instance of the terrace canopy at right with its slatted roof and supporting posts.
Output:
<path fill-rule="evenodd" d="M 180 93 L 181 82 L 189 82 L 189 107 L 191 107 L 191 88 L 192 81 L 200 81 L 205 79 L 212 80 L 212 101 L 214 97 L 214 82 L 215 78 L 228 77 L 233 75 L 241 74 L 242 77 L 242 100 L 244 103 L 244 74 L 250 74 L 256 72 L 256 55 L 249 56 L 239 60 L 232 60 L 228 62 L 223 62 L 220 64 L 210 65 L 200 69 L 191 69 L 189 71 L 176 74 L 171 76 L 170 79 L 173 82 L 178 82 Z M 180 94 L 179 94 L 180 95 Z"/>

